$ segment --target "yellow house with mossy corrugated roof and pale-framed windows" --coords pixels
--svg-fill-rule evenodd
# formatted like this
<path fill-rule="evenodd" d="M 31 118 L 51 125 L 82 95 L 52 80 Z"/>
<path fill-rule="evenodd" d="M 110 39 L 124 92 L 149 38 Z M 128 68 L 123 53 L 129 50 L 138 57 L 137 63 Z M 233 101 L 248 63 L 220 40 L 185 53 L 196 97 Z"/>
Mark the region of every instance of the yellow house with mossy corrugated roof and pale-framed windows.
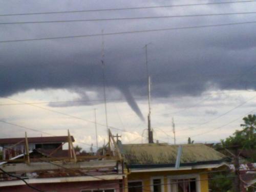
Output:
<path fill-rule="evenodd" d="M 208 192 L 208 172 L 227 158 L 204 144 L 121 144 L 129 192 Z"/>

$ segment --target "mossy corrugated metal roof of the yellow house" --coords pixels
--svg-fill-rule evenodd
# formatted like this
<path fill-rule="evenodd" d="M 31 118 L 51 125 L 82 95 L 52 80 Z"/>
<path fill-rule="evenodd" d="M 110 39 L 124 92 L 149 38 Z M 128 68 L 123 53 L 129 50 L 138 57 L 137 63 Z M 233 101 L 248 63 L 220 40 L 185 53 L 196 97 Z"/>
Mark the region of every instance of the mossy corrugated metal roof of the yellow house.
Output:
<path fill-rule="evenodd" d="M 123 144 L 128 165 L 174 164 L 179 145 L 166 143 Z M 221 161 L 226 157 L 204 144 L 183 144 L 180 164 Z"/>

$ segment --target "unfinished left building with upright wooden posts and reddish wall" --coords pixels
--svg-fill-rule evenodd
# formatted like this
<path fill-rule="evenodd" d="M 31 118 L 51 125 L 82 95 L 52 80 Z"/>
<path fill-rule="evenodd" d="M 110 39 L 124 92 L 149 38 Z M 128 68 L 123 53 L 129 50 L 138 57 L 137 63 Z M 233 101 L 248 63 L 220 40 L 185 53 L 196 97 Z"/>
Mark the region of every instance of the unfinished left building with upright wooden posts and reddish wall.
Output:
<path fill-rule="evenodd" d="M 5 140 L 8 141 L 6 144 L 2 139 L 5 150 L 23 143 L 25 151 L 0 162 L 0 191 L 119 192 L 120 187 L 123 188 L 124 168 L 119 149 L 109 133 L 110 140 L 104 147 L 104 154 L 86 156 L 76 155 L 70 134 L 62 139 L 9 139 Z M 10 143 L 10 140 L 18 142 Z M 64 142 L 69 145 L 67 156 L 54 157 Z M 52 152 L 46 154 L 42 150 Z"/>

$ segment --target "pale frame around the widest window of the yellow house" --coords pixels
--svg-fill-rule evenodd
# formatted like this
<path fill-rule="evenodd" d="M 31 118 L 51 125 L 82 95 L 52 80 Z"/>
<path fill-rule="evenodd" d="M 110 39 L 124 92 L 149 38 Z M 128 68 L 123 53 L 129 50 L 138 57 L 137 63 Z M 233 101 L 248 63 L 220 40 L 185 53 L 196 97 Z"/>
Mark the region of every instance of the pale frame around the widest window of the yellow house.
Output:
<path fill-rule="evenodd" d="M 186 175 L 172 175 L 172 176 L 167 176 L 167 181 L 168 181 L 168 192 L 175 192 L 172 191 L 170 188 L 170 184 L 172 183 L 173 179 L 193 179 L 196 178 L 196 189 L 197 192 L 201 192 L 201 181 L 200 181 L 200 175 L 199 174 L 186 174 Z"/>

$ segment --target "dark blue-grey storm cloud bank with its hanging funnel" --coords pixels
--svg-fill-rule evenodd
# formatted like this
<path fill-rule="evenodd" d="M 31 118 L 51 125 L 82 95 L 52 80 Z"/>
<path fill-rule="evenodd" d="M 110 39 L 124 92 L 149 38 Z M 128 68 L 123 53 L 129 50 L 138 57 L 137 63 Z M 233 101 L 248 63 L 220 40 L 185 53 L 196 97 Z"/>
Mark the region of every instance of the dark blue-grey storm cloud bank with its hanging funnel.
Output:
<path fill-rule="evenodd" d="M 169 2 L 169 1 L 168 1 Z M 162 1 L 162 4 L 167 4 Z M 182 1 L 182 3 L 187 3 Z M 49 2 L 38 5 L 5 3 L 3 13 L 80 10 L 109 7 L 155 5 L 131 1 L 117 5 L 100 2 L 74 4 Z M 169 4 L 169 3 L 168 3 Z M 57 20 L 77 18 L 112 18 L 153 15 L 203 14 L 253 11 L 251 4 L 148 9 L 137 11 L 93 12 L 79 14 L 1 17 L 1 22 Z M 250 5 L 250 6 L 249 6 Z M 253 4 L 255 5 L 255 4 Z M 25 9 L 26 8 L 26 9 Z M 255 11 L 255 10 L 254 10 Z M 252 21 L 254 15 L 218 16 L 152 20 L 125 20 L 68 24 L 1 25 L 1 40 L 69 36 L 80 34 L 133 31 L 181 26 L 212 25 Z M 216 28 L 176 30 L 104 36 L 105 74 L 108 87 L 124 94 L 132 109 L 142 119 L 132 95 L 146 96 L 144 49 L 148 42 L 148 65 L 153 80 L 154 97 L 200 95 L 211 86 L 228 89 L 255 89 L 256 27 L 239 25 Z M 0 95 L 9 96 L 31 89 L 98 90 L 102 98 L 101 37 L 12 42 L 0 47 Z M 78 89 L 77 89 L 78 90 Z M 131 91 L 131 92 L 130 92 Z M 101 95 L 101 96 L 100 96 Z M 77 103 L 74 103 L 77 104 Z M 84 103 L 86 104 L 86 103 Z M 88 104 L 88 103 L 87 103 Z M 70 104 L 69 104 L 70 105 Z"/>

